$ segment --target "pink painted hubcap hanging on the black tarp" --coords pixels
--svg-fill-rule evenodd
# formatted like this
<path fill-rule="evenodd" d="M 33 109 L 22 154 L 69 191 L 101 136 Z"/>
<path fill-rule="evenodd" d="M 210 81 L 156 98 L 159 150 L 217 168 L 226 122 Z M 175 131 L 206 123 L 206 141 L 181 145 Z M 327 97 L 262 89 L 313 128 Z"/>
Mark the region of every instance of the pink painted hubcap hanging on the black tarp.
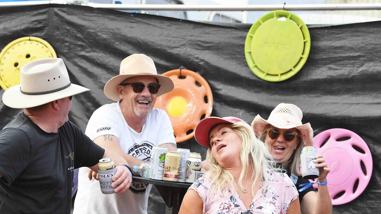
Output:
<path fill-rule="evenodd" d="M 328 137 L 328 141 L 321 146 Z M 343 137 L 349 139 L 337 141 Z M 354 146 L 362 151 L 357 151 Z M 332 204 L 345 204 L 361 195 L 369 183 L 373 169 L 372 156 L 365 141 L 352 131 L 336 128 L 325 130 L 315 136 L 314 147 L 318 154 L 323 155 L 328 168 L 331 169 L 327 176 L 327 185 Z M 365 166 L 366 174 L 361 169 L 361 162 Z M 359 184 L 353 192 L 357 180 Z M 314 187 L 317 189 L 317 184 Z M 343 195 L 333 199 L 343 191 Z"/>

